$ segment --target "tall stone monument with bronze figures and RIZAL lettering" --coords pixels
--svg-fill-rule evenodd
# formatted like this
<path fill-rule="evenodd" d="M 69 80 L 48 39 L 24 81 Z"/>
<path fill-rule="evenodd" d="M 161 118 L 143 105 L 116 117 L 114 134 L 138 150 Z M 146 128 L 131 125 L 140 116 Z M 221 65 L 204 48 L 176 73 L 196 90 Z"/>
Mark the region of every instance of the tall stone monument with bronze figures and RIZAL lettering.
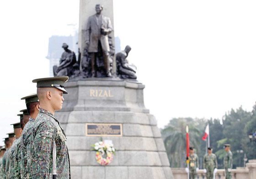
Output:
<path fill-rule="evenodd" d="M 79 56 L 63 44 L 54 76 L 69 76 L 56 117 L 74 179 L 173 179 L 155 117 L 144 107 L 131 51 L 115 54 L 112 0 L 80 0 Z"/>

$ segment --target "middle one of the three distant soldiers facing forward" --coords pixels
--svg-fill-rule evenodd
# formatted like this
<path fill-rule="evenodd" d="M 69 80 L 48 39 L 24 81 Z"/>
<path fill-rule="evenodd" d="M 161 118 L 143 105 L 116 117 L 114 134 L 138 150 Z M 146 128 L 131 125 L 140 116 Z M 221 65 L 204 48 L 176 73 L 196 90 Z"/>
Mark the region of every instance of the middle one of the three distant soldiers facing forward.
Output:
<path fill-rule="evenodd" d="M 213 179 L 213 171 L 218 167 L 216 155 L 213 152 L 213 148 L 208 148 L 208 154 L 203 157 L 203 169 L 206 169 L 206 178 Z"/>

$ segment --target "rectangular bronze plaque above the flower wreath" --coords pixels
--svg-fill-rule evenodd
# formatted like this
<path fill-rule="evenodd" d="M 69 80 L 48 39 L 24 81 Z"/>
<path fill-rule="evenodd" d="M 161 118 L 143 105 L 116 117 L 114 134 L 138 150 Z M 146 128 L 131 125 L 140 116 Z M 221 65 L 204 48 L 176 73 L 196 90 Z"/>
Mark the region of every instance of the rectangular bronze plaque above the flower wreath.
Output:
<path fill-rule="evenodd" d="M 123 136 L 122 124 L 86 123 L 86 136 Z"/>

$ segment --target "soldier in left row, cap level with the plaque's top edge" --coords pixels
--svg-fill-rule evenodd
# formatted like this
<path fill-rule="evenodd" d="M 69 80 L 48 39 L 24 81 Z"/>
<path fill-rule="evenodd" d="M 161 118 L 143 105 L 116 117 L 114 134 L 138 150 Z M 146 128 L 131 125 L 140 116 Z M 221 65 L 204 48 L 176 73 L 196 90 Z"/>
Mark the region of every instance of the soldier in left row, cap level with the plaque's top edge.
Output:
<path fill-rule="evenodd" d="M 14 128 L 14 133 L 16 136 L 16 140 L 11 146 L 11 153 L 10 153 L 10 164 L 9 164 L 9 178 L 10 179 L 20 179 L 21 173 L 20 173 L 20 159 L 19 159 L 19 151 L 21 150 L 21 123 L 14 123 L 11 124 Z"/>

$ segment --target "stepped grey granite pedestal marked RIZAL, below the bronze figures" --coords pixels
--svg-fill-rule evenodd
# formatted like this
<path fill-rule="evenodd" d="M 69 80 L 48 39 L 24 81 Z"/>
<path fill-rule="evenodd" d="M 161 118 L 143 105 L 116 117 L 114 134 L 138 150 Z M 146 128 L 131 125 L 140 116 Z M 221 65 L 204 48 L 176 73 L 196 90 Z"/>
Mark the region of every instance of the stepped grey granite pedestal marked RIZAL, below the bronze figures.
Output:
<path fill-rule="evenodd" d="M 144 107 L 143 84 L 91 78 L 65 89 L 56 117 L 67 135 L 73 179 L 173 179 L 155 117 Z M 122 137 L 102 137 L 117 149 L 111 164 L 96 162 L 91 145 L 101 137 L 86 136 L 86 123 L 122 124 Z"/>

